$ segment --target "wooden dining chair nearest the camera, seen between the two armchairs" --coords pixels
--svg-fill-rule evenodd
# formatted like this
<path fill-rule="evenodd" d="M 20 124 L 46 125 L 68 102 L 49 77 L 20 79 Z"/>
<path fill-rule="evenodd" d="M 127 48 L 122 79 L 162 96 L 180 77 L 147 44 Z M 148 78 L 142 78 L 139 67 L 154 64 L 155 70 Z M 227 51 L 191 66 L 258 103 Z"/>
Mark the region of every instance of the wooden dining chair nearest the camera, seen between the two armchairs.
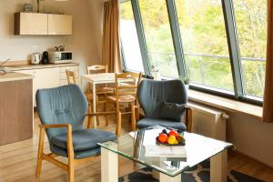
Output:
<path fill-rule="evenodd" d="M 114 96 L 106 97 L 106 112 L 109 111 L 109 104 L 116 106 L 116 135 L 121 132 L 121 115 L 131 114 L 132 106 L 136 106 L 137 89 L 142 74 L 123 73 L 116 74 L 116 93 Z M 122 106 L 125 105 L 125 106 Z M 124 111 L 123 111 L 124 110 Z M 108 116 L 106 116 L 106 126 L 108 126 Z M 135 126 L 132 125 L 132 128 Z"/>

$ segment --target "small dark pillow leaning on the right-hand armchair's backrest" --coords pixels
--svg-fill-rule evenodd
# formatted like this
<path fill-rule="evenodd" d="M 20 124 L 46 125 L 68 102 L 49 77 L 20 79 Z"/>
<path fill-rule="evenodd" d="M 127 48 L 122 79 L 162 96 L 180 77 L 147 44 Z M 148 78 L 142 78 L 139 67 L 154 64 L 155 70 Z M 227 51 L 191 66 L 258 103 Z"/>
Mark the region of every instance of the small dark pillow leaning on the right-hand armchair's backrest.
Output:
<path fill-rule="evenodd" d="M 186 105 L 163 102 L 160 109 L 160 119 L 181 122 Z"/>

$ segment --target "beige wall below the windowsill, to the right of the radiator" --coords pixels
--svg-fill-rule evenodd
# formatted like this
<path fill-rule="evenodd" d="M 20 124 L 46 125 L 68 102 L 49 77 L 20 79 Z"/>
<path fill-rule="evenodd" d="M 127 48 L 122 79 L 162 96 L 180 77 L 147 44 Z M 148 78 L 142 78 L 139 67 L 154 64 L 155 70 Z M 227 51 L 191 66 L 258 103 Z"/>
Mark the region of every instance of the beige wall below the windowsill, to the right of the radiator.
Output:
<path fill-rule="evenodd" d="M 228 113 L 227 140 L 238 151 L 273 167 L 273 124 L 252 116 Z"/>

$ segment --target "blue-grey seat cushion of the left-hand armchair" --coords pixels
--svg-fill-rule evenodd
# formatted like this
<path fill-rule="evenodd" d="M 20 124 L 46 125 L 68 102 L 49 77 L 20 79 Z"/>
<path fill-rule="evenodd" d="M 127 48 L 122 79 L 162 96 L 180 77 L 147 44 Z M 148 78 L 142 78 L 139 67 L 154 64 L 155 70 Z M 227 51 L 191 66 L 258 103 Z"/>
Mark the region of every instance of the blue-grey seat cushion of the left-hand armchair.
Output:
<path fill-rule="evenodd" d="M 107 132 L 107 131 L 98 130 L 98 129 L 76 130 L 76 131 L 73 131 L 72 136 L 73 136 L 73 147 L 74 147 L 74 151 L 76 152 L 94 149 L 98 147 L 96 143 L 116 139 L 115 134 L 111 132 Z M 61 134 L 58 136 L 54 136 L 51 139 L 51 143 L 55 147 L 66 149 L 66 140 L 67 140 L 67 135 Z"/>

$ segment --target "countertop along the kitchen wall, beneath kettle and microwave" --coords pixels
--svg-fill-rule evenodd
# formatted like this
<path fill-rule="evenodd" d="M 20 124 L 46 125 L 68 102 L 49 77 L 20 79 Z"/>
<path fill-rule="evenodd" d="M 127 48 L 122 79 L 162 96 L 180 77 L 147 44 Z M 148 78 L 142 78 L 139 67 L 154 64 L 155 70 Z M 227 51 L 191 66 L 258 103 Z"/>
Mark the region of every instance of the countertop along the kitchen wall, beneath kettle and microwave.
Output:
<path fill-rule="evenodd" d="M 64 64 L 47 64 L 47 65 L 22 65 L 22 66 L 5 66 L 7 71 L 27 70 L 27 69 L 43 69 L 49 67 L 64 67 L 64 66 L 78 66 L 78 63 L 64 63 Z"/>

